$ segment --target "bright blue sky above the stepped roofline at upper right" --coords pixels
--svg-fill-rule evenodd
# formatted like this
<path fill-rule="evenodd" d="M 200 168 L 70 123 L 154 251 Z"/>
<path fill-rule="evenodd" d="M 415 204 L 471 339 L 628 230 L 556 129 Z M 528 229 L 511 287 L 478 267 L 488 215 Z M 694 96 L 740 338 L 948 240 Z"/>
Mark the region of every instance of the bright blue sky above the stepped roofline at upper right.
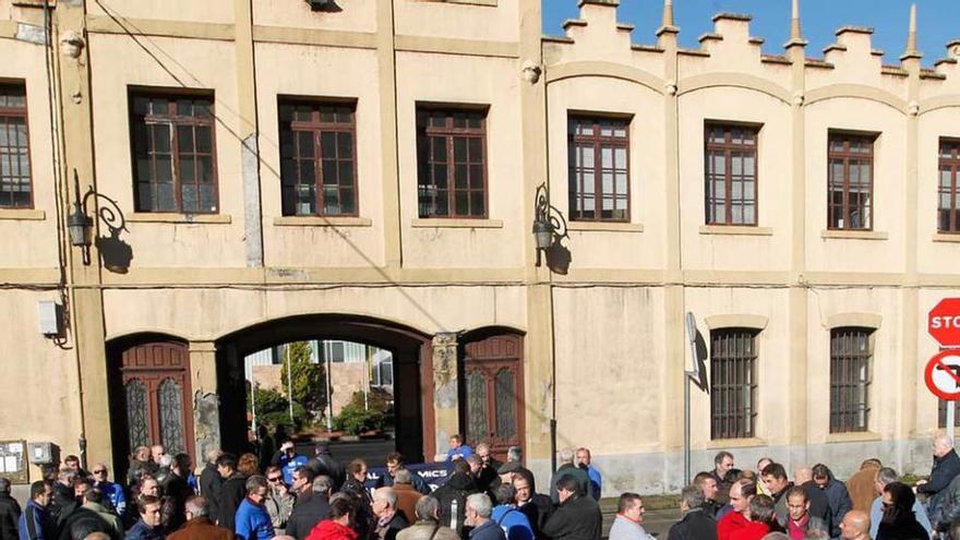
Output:
<path fill-rule="evenodd" d="M 791 0 L 674 0 L 676 25 L 683 47 L 696 48 L 697 37 L 711 32 L 711 17 L 720 12 L 748 13 L 751 34 L 763 37 L 764 52 L 783 52 L 790 34 Z M 907 43 L 910 15 L 908 0 L 801 0 L 807 56 L 823 56 L 823 48 L 835 41 L 837 28 L 845 25 L 872 26 L 873 46 L 886 52 L 885 63 L 897 63 Z M 946 44 L 960 38 L 960 0 L 916 0 L 920 49 L 924 64 L 946 56 Z M 660 26 L 663 0 L 620 0 L 617 17 L 633 23 L 633 40 L 651 44 Z M 566 19 L 577 17 L 577 0 L 543 0 L 543 33 L 563 35 Z"/>

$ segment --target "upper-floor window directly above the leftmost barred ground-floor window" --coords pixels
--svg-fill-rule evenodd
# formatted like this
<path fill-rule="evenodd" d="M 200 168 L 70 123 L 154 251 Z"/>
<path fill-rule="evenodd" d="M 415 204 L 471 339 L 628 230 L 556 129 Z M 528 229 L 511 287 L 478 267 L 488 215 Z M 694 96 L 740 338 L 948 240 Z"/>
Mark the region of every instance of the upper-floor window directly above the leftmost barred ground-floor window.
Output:
<path fill-rule="evenodd" d="M 707 225 L 757 225 L 757 135 L 747 125 L 706 125 Z"/>

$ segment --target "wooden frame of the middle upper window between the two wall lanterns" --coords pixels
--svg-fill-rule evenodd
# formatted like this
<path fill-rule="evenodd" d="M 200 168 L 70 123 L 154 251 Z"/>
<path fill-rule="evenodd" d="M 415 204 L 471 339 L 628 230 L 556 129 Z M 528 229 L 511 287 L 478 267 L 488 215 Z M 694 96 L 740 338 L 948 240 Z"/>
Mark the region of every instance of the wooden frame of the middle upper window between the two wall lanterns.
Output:
<path fill-rule="evenodd" d="M 296 211 L 296 203 L 299 200 L 293 200 L 292 203 L 295 205 L 293 212 L 287 211 L 287 182 L 284 178 L 284 167 L 280 167 L 280 206 L 283 211 L 283 215 L 285 216 L 319 216 L 319 217 L 359 217 L 360 216 L 360 193 L 359 193 L 359 180 L 358 180 L 358 166 L 357 166 L 357 101 L 355 99 L 311 99 L 303 97 L 293 97 L 293 96 L 280 96 L 278 98 L 278 120 L 279 120 L 279 141 L 284 139 L 285 130 L 289 130 L 293 133 L 293 144 L 295 144 L 295 155 L 286 156 L 284 155 L 284 145 L 280 144 L 280 163 L 283 164 L 286 159 L 293 160 L 293 167 L 296 169 L 296 179 L 300 179 L 300 161 L 305 160 L 307 158 L 300 157 L 299 149 L 299 139 L 296 136 L 297 133 L 311 132 L 313 133 L 313 170 L 314 170 L 314 189 L 315 193 L 315 205 L 316 212 L 310 214 L 298 213 Z M 289 122 L 286 122 L 283 117 L 279 116 L 280 107 L 298 107 L 298 106 L 308 106 L 311 107 L 311 120 L 302 121 L 297 120 L 296 117 L 291 119 Z M 324 121 L 322 120 L 323 115 L 329 112 L 328 109 L 349 109 L 350 119 L 347 122 L 341 122 L 339 120 L 333 121 Z M 338 112 L 337 112 L 338 113 Z M 323 144 L 322 139 L 324 133 L 336 133 L 339 135 L 340 133 L 348 133 L 351 137 L 351 151 L 352 154 L 350 156 L 350 167 L 352 172 L 352 183 L 349 187 L 349 190 L 352 192 L 353 201 L 353 211 L 352 212 L 340 212 L 340 213 L 327 213 L 325 212 L 325 190 L 324 190 L 324 172 L 323 172 L 323 161 L 324 161 L 324 153 L 323 153 Z M 338 144 L 338 142 L 336 143 Z M 339 148 L 337 148 L 339 151 Z M 335 160 L 337 161 L 337 170 L 339 171 L 339 163 L 346 161 L 346 159 L 341 159 L 339 155 L 336 156 Z M 337 189 L 338 196 L 343 196 L 345 184 L 339 182 L 339 178 L 337 178 Z M 300 185 L 301 182 L 295 181 L 293 185 Z M 341 201 L 341 199 L 340 199 Z M 340 207 L 343 207 L 343 203 L 338 203 Z"/>

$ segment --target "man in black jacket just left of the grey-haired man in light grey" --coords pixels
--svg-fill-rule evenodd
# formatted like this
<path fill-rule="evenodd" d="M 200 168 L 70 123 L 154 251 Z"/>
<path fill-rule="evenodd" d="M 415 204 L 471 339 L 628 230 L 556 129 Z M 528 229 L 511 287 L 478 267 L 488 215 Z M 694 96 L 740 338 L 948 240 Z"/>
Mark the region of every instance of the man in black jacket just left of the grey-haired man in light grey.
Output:
<path fill-rule="evenodd" d="M 603 524 L 600 506 L 580 488 L 580 482 L 573 476 L 556 481 L 560 507 L 543 525 L 543 535 L 553 540 L 600 540 Z"/>

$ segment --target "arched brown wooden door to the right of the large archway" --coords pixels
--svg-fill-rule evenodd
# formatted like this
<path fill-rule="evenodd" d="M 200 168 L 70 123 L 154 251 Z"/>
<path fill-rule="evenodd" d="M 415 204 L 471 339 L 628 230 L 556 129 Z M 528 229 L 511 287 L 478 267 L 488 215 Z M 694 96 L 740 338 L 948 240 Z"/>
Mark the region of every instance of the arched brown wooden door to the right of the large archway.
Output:
<path fill-rule="evenodd" d="M 505 334 L 464 346 L 466 436 L 473 447 L 490 444 L 497 459 L 524 444 L 521 336 Z"/>

